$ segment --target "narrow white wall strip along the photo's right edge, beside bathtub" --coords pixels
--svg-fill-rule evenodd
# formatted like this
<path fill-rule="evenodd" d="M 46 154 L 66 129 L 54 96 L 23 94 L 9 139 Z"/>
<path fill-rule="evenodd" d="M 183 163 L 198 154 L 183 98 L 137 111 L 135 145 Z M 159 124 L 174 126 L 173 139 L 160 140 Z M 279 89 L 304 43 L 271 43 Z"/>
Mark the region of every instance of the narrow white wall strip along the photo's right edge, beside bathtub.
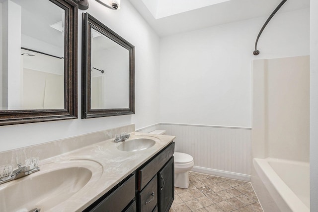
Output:
<path fill-rule="evenodd" d="M 310 1 L 310 204 L 318 209 L 318 1 Z"/>

